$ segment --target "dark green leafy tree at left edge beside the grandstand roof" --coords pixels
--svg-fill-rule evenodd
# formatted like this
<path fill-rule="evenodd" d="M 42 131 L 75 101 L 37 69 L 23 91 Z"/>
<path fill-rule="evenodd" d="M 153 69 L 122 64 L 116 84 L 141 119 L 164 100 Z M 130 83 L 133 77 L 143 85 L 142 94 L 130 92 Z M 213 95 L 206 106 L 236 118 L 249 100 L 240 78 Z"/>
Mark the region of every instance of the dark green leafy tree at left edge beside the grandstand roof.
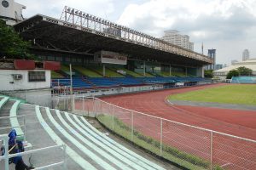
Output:
<path fill-rule="evenodd" d="M 32 54 L 28 53 L 30 47 L 30 42 L 23 41 L 13 27 L 0 20 L 0 56 L 15 59 L 33 58 Z"/>

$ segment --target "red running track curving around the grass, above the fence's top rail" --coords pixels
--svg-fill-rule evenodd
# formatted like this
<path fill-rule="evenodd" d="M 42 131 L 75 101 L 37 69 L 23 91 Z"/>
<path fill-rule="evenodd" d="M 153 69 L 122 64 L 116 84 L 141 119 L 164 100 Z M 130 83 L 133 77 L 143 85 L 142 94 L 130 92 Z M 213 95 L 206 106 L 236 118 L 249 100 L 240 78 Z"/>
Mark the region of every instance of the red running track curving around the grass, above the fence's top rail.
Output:
<path fill-rule="evenodd" d="M 168 95 L 212 88 L 214 86 L 219 86 L 219 84 L 140 94 L 116 95 L 101 99 L 113 105 L 119 105 L 148 115 L 160 116 L 172 121 L 256 140 L 256 111 L 170 105 L 166 103 Z"/>

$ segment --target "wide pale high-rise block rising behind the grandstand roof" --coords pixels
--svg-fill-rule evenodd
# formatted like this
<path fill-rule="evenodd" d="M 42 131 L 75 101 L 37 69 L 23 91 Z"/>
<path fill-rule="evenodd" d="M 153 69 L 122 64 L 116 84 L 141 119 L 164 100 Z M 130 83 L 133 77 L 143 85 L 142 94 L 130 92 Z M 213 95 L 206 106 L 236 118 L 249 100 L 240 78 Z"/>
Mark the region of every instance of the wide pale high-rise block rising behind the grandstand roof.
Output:
<path fill-rule="evenodd" d="M 189 42 L 189 36 L 181 35 L 177 30 L 165 31 L 165 35 L 162 39 L 166 42 L 194 51 L 194 42 Z"/>

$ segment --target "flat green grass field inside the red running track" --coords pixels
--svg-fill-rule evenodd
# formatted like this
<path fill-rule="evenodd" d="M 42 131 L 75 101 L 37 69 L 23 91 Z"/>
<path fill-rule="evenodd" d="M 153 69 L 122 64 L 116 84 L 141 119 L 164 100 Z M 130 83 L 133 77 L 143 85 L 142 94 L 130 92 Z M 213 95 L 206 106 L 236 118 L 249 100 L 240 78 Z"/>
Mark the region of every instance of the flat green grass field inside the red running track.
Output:
<path fill-rule="evenodd" d="M 256 105 L 256 85 L 227 85 L 168 96 L 171 100 Z"/>

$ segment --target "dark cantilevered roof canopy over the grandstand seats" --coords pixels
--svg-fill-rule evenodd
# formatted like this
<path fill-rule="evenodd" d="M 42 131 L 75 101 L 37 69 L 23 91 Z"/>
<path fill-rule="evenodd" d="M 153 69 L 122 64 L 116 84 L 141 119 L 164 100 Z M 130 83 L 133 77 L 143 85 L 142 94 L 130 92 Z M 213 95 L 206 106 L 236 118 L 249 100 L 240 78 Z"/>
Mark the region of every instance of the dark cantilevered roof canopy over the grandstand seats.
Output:
<path fill-rule="evenodd" d="M 111 28 L 115 29 L 115 28 Z M 15 25 L 20 35 L 33 42 L 33 50 L 70 54 L 94 54 L 100 50 L 129 54 L 128 59 L 144 59 L 172 65 L 202 66 L 212 59 L 154 37 L 125 38 L 37 14 Z M 129 29 L 128 29 L 129 30 Z M 131 30 L 131 29 L 130 29 Z M 123 30 L 120 30 L 123 31 Z M 129 34 L 128 34 L 129 35 Z M 143 34 L 144 35 L 144 34 Z M 143 41 L 139 41 L 139 40 Z M 144 39 L 145 38 L 145 39 Z"/>

